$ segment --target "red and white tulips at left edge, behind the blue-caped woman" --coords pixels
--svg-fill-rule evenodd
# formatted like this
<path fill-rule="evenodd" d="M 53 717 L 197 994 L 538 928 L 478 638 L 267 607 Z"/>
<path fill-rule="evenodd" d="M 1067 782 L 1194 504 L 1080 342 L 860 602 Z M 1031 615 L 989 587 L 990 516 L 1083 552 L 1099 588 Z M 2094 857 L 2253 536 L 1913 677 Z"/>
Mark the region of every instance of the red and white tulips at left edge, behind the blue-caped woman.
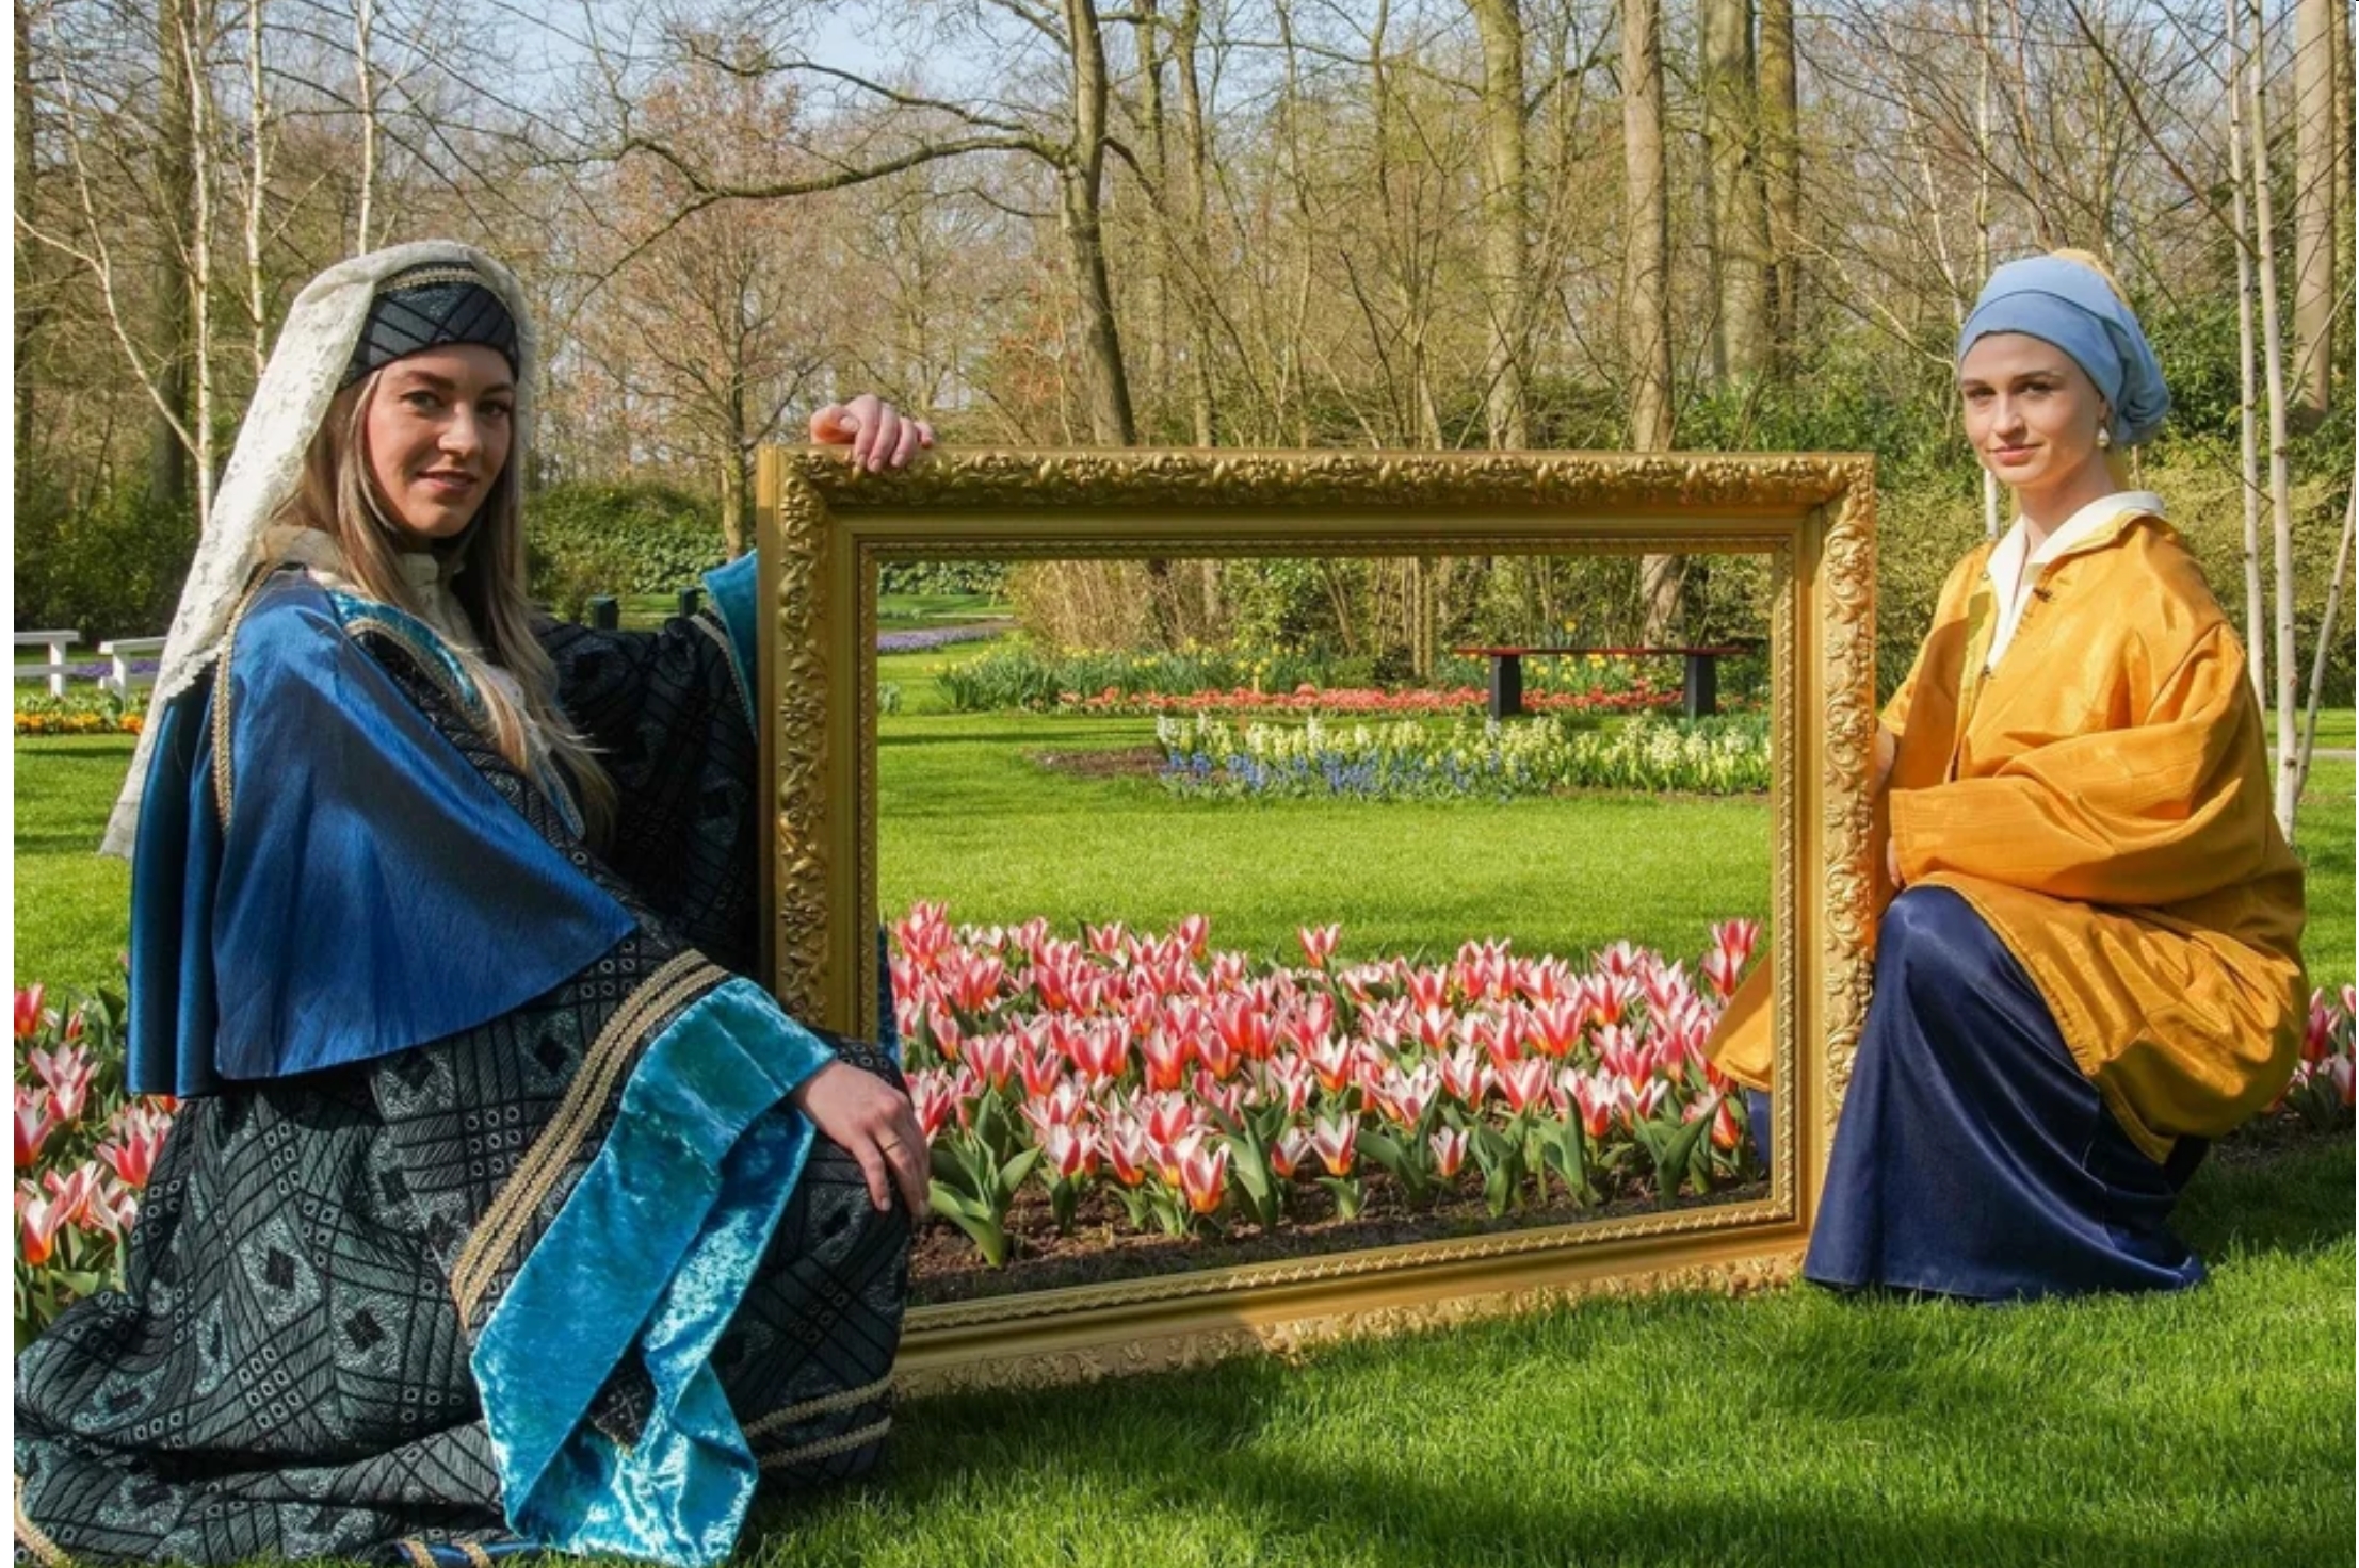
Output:
<path fill-rule="evenodd" d="M 17 1344 L 68 1302 L 123 1283 L 123 1238 L 139 1212 L 175 1101 L 123 1092 L 123 1004 L 94 997 L 59 1014 L 42 988 L 17 993 Z"/>

